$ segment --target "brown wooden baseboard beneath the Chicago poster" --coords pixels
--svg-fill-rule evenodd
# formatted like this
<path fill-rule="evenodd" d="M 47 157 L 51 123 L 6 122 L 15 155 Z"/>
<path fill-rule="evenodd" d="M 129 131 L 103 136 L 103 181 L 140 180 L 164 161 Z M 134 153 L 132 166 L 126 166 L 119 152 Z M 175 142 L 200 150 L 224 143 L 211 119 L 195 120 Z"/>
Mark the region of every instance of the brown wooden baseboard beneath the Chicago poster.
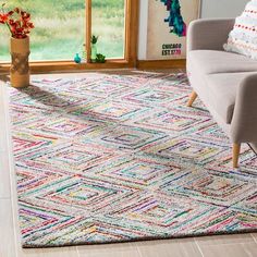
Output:
<path fill-rule="evenodd" d="M 139 70 L 157 70 L 157 69 L 185 69 L 185 59 L 174 60 L 138 60 L 136 68 Z"/>

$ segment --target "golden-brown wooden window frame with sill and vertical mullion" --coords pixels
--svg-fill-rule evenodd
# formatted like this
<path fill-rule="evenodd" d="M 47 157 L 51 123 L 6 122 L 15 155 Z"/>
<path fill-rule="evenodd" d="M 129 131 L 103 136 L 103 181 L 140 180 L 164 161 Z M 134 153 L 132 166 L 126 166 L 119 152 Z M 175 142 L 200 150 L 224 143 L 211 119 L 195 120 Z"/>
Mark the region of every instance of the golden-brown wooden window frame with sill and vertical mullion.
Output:
<path fill-rule="evenodd" d="M 29 62 L 32 73 L 45 73 L 57 71 L 83 71 L 98 69 L 130 69 L 135 68 L 137 62 L 138 40 L 138 0 L 125 0 L 125 41 L 124 59 L 107 59 L 106 63 L 90 62 L 90 38 L 91 38 L 91 0 L 86 2 L 86 52 L 85 63 L 76 64 L 73 61 L 32 61 Z M 0 63 L 0 72 L 8 72 L 10 63 Z"/>

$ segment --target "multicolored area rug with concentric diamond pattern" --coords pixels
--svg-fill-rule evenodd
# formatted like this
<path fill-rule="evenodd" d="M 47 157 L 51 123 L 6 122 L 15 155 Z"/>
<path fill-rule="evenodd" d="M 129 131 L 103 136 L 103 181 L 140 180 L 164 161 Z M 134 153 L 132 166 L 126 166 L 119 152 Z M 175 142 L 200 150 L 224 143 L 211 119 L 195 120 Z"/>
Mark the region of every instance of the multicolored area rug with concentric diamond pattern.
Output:
<path fill-rule="evenodd" d="M 257 157 L 231 168 L 185 74 L 46 77 L 10 88 L 24 247 L 257 230 Z"/>

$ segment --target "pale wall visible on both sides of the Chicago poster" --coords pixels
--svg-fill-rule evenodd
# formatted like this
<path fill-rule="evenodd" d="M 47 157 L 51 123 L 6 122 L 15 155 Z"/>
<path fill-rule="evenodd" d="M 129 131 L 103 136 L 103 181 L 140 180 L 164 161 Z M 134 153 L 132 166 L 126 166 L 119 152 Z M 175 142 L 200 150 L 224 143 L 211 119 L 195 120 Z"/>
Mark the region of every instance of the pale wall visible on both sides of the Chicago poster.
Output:
<path fill-rule="evenodd" d="M 148 1 L 140 0 L 138 59 L 146 59 Z M 189 0 L 188 0 L 189 1 Z M 201 17 L 234 17 L 249 0 L 201 0 Z"/>

